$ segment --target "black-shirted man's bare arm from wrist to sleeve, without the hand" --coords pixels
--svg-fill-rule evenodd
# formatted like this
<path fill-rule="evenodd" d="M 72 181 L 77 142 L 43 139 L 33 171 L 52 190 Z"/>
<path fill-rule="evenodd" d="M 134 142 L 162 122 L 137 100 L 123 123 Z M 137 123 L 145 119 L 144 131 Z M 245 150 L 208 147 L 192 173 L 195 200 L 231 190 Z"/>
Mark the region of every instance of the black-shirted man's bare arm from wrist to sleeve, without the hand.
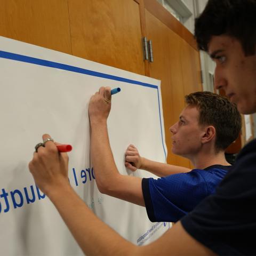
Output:
<path fill-rule="evenodd" d="M 47 194 L 86 255 L 214 255 L 182 228 L 180 222 L 146 246 L 135 246 L 118 235 L 86 206 L 73 188 L 54 187 Z"/>

